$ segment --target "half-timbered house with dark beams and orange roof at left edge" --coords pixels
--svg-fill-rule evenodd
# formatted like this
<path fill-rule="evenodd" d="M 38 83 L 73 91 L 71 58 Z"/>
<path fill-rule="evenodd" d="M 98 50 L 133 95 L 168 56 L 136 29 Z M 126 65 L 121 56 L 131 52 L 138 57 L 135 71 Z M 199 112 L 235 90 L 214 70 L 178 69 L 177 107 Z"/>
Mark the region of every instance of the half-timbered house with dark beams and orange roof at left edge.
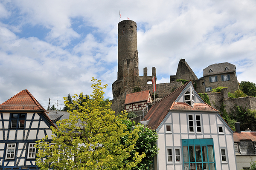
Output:
<path fill-rule="evenodd" d="M 28 90 L 0 105 L 0 169 L 38 169 L 36 141 L 49 136 L 55 126 Z"/>

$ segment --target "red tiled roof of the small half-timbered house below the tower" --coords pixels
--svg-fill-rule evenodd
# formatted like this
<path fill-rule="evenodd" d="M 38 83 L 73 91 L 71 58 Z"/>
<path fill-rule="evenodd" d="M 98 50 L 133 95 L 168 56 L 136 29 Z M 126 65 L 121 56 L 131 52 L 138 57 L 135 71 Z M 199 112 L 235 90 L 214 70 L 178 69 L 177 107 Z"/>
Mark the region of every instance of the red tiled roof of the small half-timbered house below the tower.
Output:
<path fill-rule="evenodd" d="M 131 93 L 131 94 L 126 94 L 124 105 L 147 101 L 149 95 L 150 95 L 149 90 L 148 91 L 140 91 L 140 92 Z"/>

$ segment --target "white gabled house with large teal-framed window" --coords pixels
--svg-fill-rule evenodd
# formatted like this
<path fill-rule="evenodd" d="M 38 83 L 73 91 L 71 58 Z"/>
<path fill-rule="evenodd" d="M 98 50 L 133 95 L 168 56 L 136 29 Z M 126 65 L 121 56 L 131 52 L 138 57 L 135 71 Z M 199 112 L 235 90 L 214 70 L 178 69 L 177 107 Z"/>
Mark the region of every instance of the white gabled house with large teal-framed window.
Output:
<path fill-rule="evenodd" d="M 145 120 L 159 136 L 154 170 L 237 169 L 233 130 L 191 81 L 152 105 Z"/>

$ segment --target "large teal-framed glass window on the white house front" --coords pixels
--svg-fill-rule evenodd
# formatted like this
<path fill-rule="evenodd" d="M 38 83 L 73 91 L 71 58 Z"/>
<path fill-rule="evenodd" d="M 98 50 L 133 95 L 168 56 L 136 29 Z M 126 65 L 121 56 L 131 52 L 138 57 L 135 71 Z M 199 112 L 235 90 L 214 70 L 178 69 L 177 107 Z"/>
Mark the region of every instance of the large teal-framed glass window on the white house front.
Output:
<path fill-rule="evenodd" d="M 182 156 L 183 156 L 184 170 L 193 170 L 193 169 L 197 169 L 197 167 L 200 167 L 200 166 L 202 167 L 202 169 L 204 166 L 206 166 L 207 170 L 216 170 L 213 139 L 181 139 L 181 141 L 182 141 Z M 187 148 L 187 153 L 186 153 L 186 148 Z M 200 153 L 196 153 L 197 152 L 196 150 L 198 148 L 200 150 Z M 212 148 L 212 151 L 211 151 L 212 157 L 209 157 L 209 149 L 211 148 Z M 190 149 L 193 149 L 193 153 L 189 151 Z M 186 156 L 186 158 L 184 158 L 184 155 Z M 212 159 L 213 161 L 210 159 Z"/>

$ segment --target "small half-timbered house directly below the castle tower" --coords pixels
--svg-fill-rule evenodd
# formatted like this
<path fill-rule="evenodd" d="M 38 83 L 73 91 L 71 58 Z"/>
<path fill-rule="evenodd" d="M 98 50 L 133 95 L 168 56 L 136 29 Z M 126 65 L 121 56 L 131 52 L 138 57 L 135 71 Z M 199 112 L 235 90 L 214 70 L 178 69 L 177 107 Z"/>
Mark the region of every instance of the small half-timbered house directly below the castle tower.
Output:
<path fill-rule="evenodd" d="M 125 110 L 127 112 L 147 109 L 147 103 L 153 102 L 150 91 L 140 91 L 126 94 Z"/>

